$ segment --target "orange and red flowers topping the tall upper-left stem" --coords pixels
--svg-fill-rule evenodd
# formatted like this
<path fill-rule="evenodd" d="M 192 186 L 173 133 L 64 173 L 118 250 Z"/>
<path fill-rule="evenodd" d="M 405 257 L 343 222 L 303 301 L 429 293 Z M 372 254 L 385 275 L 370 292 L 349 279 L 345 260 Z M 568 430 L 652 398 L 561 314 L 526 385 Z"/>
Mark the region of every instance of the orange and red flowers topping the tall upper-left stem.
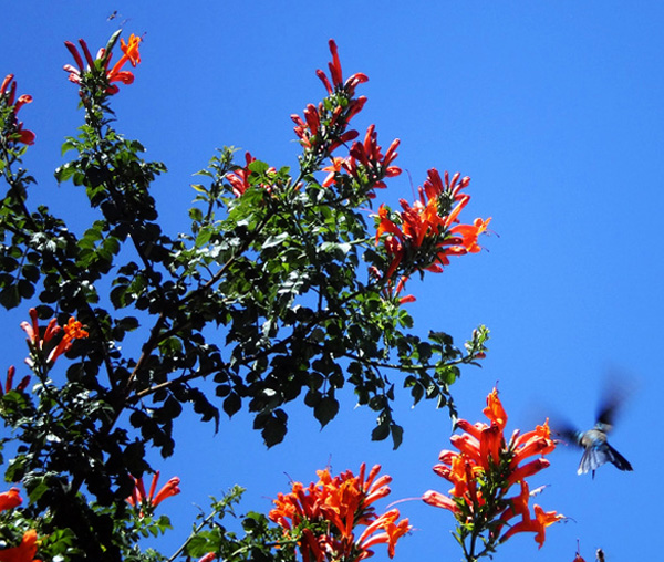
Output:
<path fill-rule="evenodd" d="M 79 44 L 81 45 L 81 50 L 83 51 L 83 55 L 85 56 L 85 62 L 83 62 L 83 58 L 81 53 L 76 49 L 76 45 L 71 41 L 65 41 L 64 45 L 72 53 L 77 69 L 72 66 L 71 64 L 65 64 L 63 69 L 69 72 L 69 80 L 75 84 L 81 83 L 81 77 L 85 72 L 91 72 L 92 69 L 95 69 L 95 62 L 102 61 L 102 66 L 104 69 L 106 80 L 111 84 L 106 89 L 107 94 L 116 94 L 120 89 L 112 84 L 113 82 L 122 82 L 123 84 L 132 84 L 134 82 L 134 74 L 131 71 L 123 70 L 124 65 L 128 62 L 132 66 L 136 66 L 141 62 L 141 53 L 138 52 L 138 45 L 142 39 L 133 33 L 129 35 L 129 40 L 125 43 L 124 39 L 120 40 L 120 48 L 123 52 L 123 55 L 120 60 L 108 69 L 108 64 L 111 63 L 111 59 L 113 58 L 113 53 L 106 53 L 106 49 L 102 48 L 97 51 L 97 55 L 95 59 L 90 54 L 90 49 L 87 48 L 87 43 L 83 39 L 79 39 Z"/>

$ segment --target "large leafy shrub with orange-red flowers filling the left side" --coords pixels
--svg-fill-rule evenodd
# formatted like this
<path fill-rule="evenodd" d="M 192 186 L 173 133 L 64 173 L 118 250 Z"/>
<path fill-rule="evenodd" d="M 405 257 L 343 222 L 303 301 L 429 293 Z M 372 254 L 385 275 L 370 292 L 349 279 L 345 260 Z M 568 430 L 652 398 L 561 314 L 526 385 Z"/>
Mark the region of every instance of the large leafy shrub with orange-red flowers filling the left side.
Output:
<path fill-rule="evenodd" d="M 400 293 L 409 275 L 477 252 L 489 219 L 459 222 L 469 180 L 435 168 L 402 211 L 376 201 L 402 171 L 400 140 L 383 150 L 374 124 L 364 134 L 351 128 L 369 77 L 344 79 L 334 41 L 328 72 L 317 71 L 324 98 L 292 115 L 295 173 L 249 152 L 236 163 L 225 148 L 198 173 L 189 228 L 172 235 L 152 191 L 166 166 L 144 159 L 143 145 L 115 128 L 111 105 L 142 61 L 142 38 L 120 35 L 95 56 L 83 39 L 65 42 L 83 124 L 65 139 L 69 159 L 55 177 L 73 184 L 89 214 L 61 218 L 32 206 L 39 194 L 23 158 L 37 137 L 17 117 L 32 97 L 17 98 L 12 75 L 0 86 L 0 304 L 27 310 L 22 368 L 31 373 L 14 386 L 10 366 L 0 392 L 11 436 L 0 447 L 12 443 L 6 465 L 0 457 L 12 482 L 0 493 L 0 562 L 165 560 L 141 541 L 169 530 L 155 511 L 180 480 L 157 490 L 148 450 L 174 452 L 186 408 L 217 427 L 221 413 L 245 408 L 274 446 L 290 403 L 302 397 L 324 426 L 351 385 L 359 405 L 376 413 L 372 438 L 392 437 L 396 448 L 402 428 L 387 375 L 397 373 L 414 403 L 434 399 L 454 415 L 460 366 L 486 354 L 484 326 L 461 347 L 442 331 L 412 333 L 414 296 Z M 280 495 L 269 518 L 245 516 L 243 537 L 224 522 L 235 516 L 236 488 L 212 501 L 169 560 L 351 562 L 380 544 L 392 558 L 412 527 L 396 509 L 376 511 L 390 492 L 378 471 L 321 470 L 318 482 Z M 149 490 L 146 473 L 155 475 Z"/>

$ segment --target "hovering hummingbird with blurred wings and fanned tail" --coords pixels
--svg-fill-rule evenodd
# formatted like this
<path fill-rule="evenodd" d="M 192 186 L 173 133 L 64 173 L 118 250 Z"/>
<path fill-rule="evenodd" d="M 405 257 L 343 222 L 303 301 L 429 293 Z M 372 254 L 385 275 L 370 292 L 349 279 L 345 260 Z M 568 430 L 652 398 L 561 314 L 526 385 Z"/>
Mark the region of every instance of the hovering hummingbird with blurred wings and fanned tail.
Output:
<path fill-rule="evenodd" d="M 583 449 L 578 475 L 592 472 L 594 478 L 595 470 L 606 462 L 613 464 L 619 470 L 633 470 L 630 461 L 609 444 L 606 437 L 613 428 L 613 419 L 622 402 L 618 392 L 608 394 L 599 408 L 595 425 L 587 431 L 580 431 L 571 426 L 558 429 L 558 434 Z"/>

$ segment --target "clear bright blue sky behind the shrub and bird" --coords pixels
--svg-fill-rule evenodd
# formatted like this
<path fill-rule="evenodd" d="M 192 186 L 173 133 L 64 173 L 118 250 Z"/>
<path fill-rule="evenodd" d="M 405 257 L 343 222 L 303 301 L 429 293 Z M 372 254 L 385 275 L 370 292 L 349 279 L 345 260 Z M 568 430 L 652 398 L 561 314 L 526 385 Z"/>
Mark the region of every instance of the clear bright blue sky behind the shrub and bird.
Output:
<path fill-rule="evenodd" d="M 664 460 L 652 436 L 664 389 L 657 2 L 28 0 L 14 3 L 9 22 L 0 71 L 15 74 L 20 93 L 34 97 L 21 110 L 37 133 L 25 158 L 39 179 L 32 204 L 74 217 L 74 230 L 83 194 L 58 187 L 52 176 L 63 162 L 62 138 L 82 117 L 61 70 L 71 62 L 64 40 L 82 37 L 96 48 L 123 22 L 127 34 L 145 33 L 136 81 L 121 86 L 114 108 L 117 128 L 170 170 L 154 195 L 175 232 L 187 228 L 191 174 L 215 148 L 241 147 L 273 166 L 295 163 L 289 115 L 323 96 L 314 71 L 325 67 L 334 38 L 345 74 L 370 77 L 356 127 L 375 123 L 384 147 L 401 138 L 396 164 L 415 186 L 430 167 L 469 175 L 466 216 L 492 217 L 487 251 L 408 284 L 423 334 L 445 330 L 461 343 L 480 323 L 491 330 L 484 367 L 467 368 L 453 388 L 461 417 L 480 419 L 498 382 L 509 428 L 528 429 L 549 408 L 589 426 L 609 370 L 625 373 L 635 388 L 612 435 L 634 472 L 608 466 L 594 481 L 578 477 L 580 452 L 561 447 L 535 485 L 550 485 L 538 501 L 570 520 L 549 528 L 542 550 L 523 534 L 495 559 L 571 561 L 577 539 L 587 560 L 598 547 L 608 560 L 652 555 L 653 538 L 641 533 L 663 501 L 647 476 Z M 408 176 L 395 178 L 384 196 L 411 199 Z M 7 316 L 1 348 L 10 363 L 22 361 L 18 322 L 25 316 Z M 180 427 L 178 452 L 159 462 L 164 476 L 183 479 L 183 493 L 163 504 L 176 524 L 163 551 L 184 540 L 194 504 L 206 507 L 208 495 L 236 482 L 249 489 L 243 507 L 262 511 L 290 478 L 309 482 L 328 462 L 335 471 L 382 464 L 394 477 L 394 500 L 448 489 L 430 471 L 448 448 L 445 412 L 429 404 L 411 409 L 404 393 L 404 444 L 392 451 L 388 443 L 370 441 L 371 413 L 346 398 L 322 431 L 308 410 L 291 408 L 290 434 L 271 450 L 242 415 L 225 420 L 217 436 L 195 422 Z M 448 512 L 415 501 L 401 509 L 417 530 L 398 544 L 396 560 L 460 559 Z M 384 559 L 378 550 L 374 560 Z"/>

